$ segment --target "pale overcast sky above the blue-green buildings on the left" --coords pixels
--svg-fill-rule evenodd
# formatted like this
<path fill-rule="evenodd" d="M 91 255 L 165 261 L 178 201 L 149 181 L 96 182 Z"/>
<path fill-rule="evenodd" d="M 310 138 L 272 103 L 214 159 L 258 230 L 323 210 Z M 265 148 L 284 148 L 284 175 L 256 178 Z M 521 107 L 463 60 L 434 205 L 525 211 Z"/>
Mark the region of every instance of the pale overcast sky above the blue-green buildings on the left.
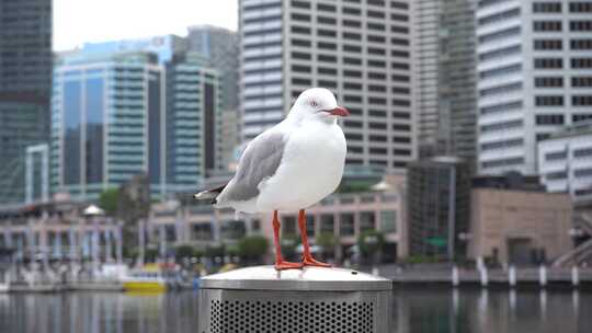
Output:
<path fill-rule="evenodd" d="M 238 0 L 54 0 L 54 49 L 84 42 L 185 35 L 213 24 L 237 30 Z"/>

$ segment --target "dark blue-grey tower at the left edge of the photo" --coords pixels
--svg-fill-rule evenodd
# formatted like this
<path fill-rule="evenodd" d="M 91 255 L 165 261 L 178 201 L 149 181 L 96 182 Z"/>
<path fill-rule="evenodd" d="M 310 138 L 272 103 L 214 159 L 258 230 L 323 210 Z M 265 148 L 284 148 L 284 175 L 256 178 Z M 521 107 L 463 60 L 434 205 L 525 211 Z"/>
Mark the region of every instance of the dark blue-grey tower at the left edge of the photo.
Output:
<path fill-rule="evenodd" d="M 47 140 L 52 0 L 0 2 L 0 203 L 24 202 L 26 147 Z"/>

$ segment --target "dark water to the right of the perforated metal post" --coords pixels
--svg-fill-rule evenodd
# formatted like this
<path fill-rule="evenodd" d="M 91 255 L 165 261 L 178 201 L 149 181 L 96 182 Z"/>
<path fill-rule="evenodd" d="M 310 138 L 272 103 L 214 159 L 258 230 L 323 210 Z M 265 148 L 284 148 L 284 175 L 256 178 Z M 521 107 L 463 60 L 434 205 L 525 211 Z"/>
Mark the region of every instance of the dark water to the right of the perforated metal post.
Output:
<path fill-rule="evenodd" d="M 592 332 L 592 294 L 582 291 L 400 289 L 398 333 Z"/>

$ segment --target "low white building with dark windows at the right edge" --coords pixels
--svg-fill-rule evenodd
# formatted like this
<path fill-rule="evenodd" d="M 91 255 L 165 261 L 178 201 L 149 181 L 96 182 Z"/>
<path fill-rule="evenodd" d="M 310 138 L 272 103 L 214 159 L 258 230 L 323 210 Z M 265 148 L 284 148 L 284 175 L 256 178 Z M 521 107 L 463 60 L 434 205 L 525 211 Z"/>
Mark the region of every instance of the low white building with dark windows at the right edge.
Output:
<path fill-rule="evenodd" d="M 538 142 L 538 165 L 548 192 L 567 192 L 576 204 L 592 203 L 592 122 Z"/>

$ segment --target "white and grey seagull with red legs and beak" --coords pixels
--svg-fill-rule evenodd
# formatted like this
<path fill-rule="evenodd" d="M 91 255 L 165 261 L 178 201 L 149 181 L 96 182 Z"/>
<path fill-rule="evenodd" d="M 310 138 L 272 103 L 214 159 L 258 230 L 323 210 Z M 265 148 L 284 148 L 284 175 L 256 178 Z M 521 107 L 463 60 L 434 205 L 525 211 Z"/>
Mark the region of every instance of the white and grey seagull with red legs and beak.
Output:
<path fill-rule="evenodd" d="M 237 213 L 273 214 L 275 269 L 330 267 L 310 254 L 305 209 L 333 193 L 341 182 L 348 147 L 337 119 L 348 115 L 329 90 L 307 89 L 284 120 L 247 145 L 226 185 L 195 198 L 210 199 L 214 207 Z M 280 245 L 278 211 L 296 210 L 304 246 L 300 263 L 284 261 Z"/>

